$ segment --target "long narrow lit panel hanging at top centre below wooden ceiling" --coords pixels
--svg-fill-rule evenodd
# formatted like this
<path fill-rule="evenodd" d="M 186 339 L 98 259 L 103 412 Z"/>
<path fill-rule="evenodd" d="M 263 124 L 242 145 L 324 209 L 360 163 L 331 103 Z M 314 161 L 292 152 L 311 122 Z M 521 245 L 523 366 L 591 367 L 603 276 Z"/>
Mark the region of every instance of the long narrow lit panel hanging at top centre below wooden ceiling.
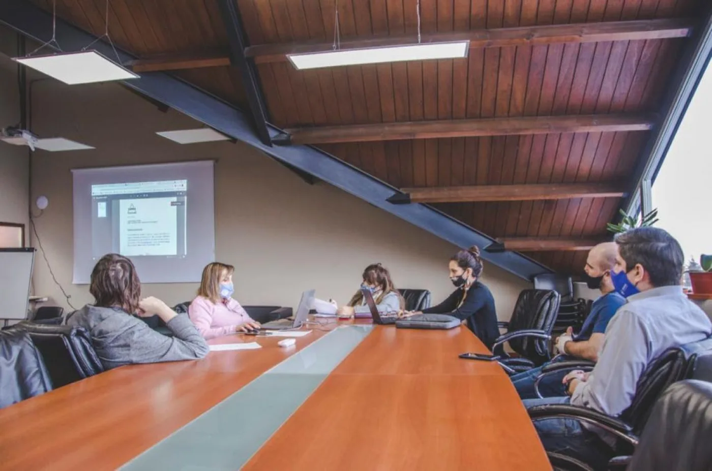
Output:
<path fill-rule="evenodd" d="M 288 54 L 295 68 L 315 69 L 342 65 L 379 64 L 407 60 L 454 59 L 467 57 L 470 41 L 422 43 L 384 48 L 343 49 L 323 53 Z"/>

